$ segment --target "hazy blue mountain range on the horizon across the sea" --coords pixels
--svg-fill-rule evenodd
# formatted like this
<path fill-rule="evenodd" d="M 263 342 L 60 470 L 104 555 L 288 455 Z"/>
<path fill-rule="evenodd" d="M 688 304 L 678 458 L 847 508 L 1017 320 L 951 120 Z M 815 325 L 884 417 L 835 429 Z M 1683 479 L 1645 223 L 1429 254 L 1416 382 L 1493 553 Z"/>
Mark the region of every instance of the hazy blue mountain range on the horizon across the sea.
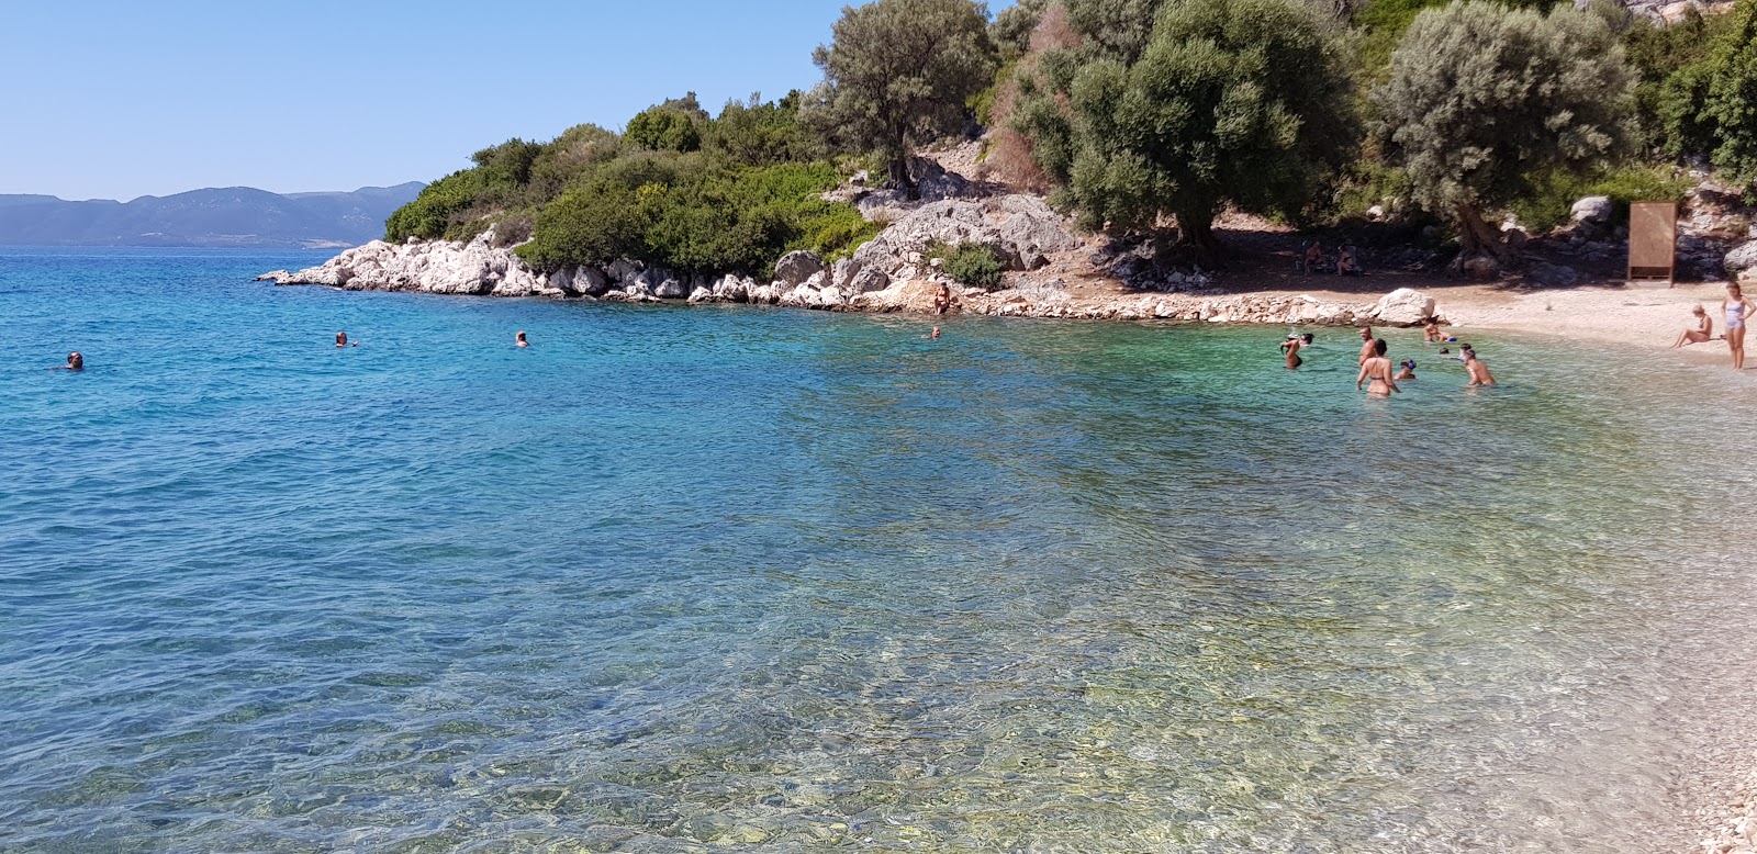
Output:
<path fill-rule="evenodd" d="M 190 190 L 132 202 L 0 195 L 5 246 L 341 248 L 385 235 L 385 220 L 420 181 L 351 193 L 271 193 L 249 186 Z"/>

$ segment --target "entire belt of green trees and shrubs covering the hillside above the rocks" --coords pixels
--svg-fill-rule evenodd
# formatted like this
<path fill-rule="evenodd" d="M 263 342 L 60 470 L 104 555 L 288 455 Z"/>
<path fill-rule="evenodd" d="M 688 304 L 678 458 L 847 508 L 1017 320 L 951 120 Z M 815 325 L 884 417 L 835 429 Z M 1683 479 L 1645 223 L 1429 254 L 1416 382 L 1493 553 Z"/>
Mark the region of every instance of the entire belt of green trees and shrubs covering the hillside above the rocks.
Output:
<path fill-rule="evenodd" d="M 511 139 L 432 183 L 387 239 L 494 227 L 539 267 L 636 258 L 764 272 L 875 232 L 826 202 L 859 165 L 915 193 L 908 153 L 980 119 L 994 174 L 1082 227 L 1177 227 L 1198 255 L 1225 209 L 1312 225 L 1385 204 L 1455 225 L 1567 218 L 1581 195 L 1676 199 L 1680 165 L 1757 179 L 1757 0 L 1671 26 L 1615 0 L 873 0 L 813 51 L 822 81 L 710 116 L 694 93 Z M 529 241 L 529 242 L 527 242 Z M 993 253 L 944 248 L 959 281 Z M 956 269 L 954 269 L 956 267 Z"/>

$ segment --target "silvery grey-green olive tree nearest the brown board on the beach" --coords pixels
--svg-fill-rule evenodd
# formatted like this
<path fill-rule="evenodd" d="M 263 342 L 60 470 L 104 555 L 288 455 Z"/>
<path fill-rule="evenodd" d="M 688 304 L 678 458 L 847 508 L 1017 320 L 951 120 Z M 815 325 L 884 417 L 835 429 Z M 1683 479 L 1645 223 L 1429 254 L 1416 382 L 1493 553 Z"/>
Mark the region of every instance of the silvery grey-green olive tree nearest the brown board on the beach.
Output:
<path fill-rule="evenodd" d="M 1587 170 L 1630 139 L 1634 74 L 1594 14 L 1455 0 L 1416 16 L 1372 93 L 1381 146 L 1416 200 L 1458 227 L 1464 253 L 1508 260 L 1485 214 L 1529 176 Z"/>

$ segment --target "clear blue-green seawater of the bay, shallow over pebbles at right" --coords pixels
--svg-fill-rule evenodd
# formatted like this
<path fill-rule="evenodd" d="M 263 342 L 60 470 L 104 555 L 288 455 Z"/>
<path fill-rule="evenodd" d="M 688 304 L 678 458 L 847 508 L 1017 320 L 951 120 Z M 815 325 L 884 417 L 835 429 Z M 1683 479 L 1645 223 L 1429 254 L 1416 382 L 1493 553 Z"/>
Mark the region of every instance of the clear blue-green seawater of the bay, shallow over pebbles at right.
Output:
<path fill-rule="evenodd" d="M 0 255 L 0 849 L 1639 850 L 1753 599 L 1650 353 L 318 258 Z"/>

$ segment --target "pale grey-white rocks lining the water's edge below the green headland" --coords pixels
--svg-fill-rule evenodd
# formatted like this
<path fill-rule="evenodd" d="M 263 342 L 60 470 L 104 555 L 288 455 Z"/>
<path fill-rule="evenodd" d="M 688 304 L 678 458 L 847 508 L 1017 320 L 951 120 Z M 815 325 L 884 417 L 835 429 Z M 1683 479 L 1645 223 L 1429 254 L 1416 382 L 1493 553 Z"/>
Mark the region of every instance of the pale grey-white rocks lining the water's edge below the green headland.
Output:
<path fill-rule="evenodd" d="M 996 290 L 970 288 L 929 258 L 933 246 L 980 244 L 1010 271 Z M 372 241 L 302 271 L 272 271 L 257 281 L 487 297 L 596 299 L 613 302 L 729 302 L 819 311 L 935 313 L 942 286 L 949 313 L 1016 318 L 1184 320 L 1207 323 L 1414 325 L 1435 311 L 1434 299 L 1399 288 L 1377 302 L 1311 295 L 1237 295 L 1211 286 L 1202 271 L 1160 272 L 1154 290 L 1089 290 L 1074 269 L 1095 250 L 1037 197 L 944 199 L 914 207 L 863 244 L 854 257 L 826 264 L 794 251 L 775 264 L 771 281 L 748 276 L 675 274 L 640 262 L 604 267 L 531 269 L 494 230 L 469 242 Z"/>

